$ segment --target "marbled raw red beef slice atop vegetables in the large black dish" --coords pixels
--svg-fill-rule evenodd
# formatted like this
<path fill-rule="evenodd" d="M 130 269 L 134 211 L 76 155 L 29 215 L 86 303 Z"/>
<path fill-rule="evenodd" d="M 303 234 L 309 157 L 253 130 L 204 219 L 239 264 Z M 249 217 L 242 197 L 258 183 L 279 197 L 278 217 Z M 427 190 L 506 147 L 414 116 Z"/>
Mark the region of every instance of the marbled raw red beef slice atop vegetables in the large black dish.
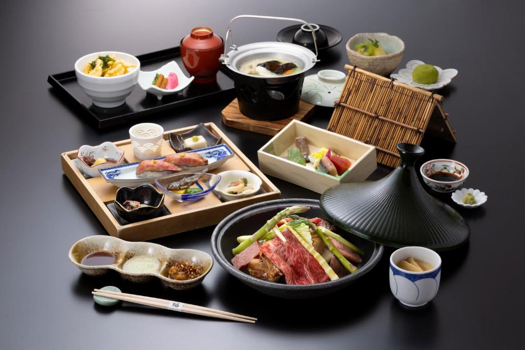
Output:
<path fill-rule="evenodd" d="M 272 239 L 260 250 L 285 275 L 287 284 L 313 284 L 329 280 L 319 262 L 301 245 L 289 229 L 282 231 L 286 242 Z"/>

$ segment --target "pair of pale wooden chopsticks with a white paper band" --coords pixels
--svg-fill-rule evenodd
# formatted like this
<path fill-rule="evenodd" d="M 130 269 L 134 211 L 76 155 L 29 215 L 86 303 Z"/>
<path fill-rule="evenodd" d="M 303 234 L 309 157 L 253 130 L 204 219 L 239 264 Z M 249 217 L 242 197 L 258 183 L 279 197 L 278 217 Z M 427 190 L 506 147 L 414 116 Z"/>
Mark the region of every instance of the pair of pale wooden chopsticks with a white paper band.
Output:
<path fill-rule="evenodd" d="M 204 307 L 204 306 L 198 306 L 198 305 L 193 305 L 193 304 L 183 304 L 183 303 L 178 303 L 178 302 L 165 300 L 165 299 L 159 299 L 159 298 L 151 298 L 150 296 L 119 293 L 119 292 L 112 292 L 112 291 L 103 291 L 99 289 L 95 289 L 91 293 L 94 295 L 106 296 L 107 298 L 128 301 L 128 302 L 142 304 L 146 306 L 158 307 L 160 309 L 176 310 L 176 311 L 180 311 L 184 313 L 216 317 L 218 319 L 247 322 L 247 323 L 255 323 L 255 321 L 257 320 L 255 317 L 249 317 L 249 316 L 234 314 L 231 312 L 215 310 L 215 309 L 211 309 L 209 307 Z M 176 305 L 176 307 L 170 307 L 170 305 L 172 304 Z"/>

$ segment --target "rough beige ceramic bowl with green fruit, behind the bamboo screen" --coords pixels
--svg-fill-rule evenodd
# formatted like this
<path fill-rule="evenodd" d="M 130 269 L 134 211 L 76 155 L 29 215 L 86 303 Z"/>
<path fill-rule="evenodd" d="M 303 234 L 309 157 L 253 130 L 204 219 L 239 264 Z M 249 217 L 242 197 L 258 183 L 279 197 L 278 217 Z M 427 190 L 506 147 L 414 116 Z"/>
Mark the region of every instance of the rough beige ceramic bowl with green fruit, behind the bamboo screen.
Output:
<path fill-rule="evenodd" d="M 346 43 L 352 65 L 387 76 L 399 66 L 405 52 L 403 40 L 386 33 L 356 34 Z"/>

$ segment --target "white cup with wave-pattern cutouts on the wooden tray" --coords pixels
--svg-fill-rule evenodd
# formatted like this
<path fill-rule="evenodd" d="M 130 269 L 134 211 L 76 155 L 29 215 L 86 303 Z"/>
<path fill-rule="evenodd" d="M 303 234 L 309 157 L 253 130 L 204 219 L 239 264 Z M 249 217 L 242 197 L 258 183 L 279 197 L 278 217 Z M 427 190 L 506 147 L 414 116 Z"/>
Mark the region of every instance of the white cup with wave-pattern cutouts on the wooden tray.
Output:
<path fill-rule="evenodd" d="M 135 124 L 130 128 L 129 133 L 135 157 L 149 160 L 161 156 L 164 141 L 162 126 L 154 123 Z"/>

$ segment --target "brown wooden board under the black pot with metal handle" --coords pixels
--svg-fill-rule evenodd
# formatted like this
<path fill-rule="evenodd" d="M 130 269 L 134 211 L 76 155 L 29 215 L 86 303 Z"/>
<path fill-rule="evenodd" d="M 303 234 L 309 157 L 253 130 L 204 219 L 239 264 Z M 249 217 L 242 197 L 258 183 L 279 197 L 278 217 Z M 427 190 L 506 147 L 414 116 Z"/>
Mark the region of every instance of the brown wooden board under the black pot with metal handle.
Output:
<path fill-rule="evenodd" d="M 299 110 L 295 115 L 288 119 L 270 122 L 248 118 L 239 111 L 239 103 L 237 99 L 235 99 L 223 109 L 223 124 L 235 129 L 257 132 L 259 134 L 276 135 L 292 120 L 303 120 L 310 116 L 313 113 L 314 107 L 316 107 L 315 104 L 300 101 Z"/>

